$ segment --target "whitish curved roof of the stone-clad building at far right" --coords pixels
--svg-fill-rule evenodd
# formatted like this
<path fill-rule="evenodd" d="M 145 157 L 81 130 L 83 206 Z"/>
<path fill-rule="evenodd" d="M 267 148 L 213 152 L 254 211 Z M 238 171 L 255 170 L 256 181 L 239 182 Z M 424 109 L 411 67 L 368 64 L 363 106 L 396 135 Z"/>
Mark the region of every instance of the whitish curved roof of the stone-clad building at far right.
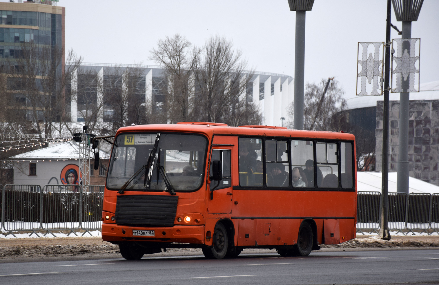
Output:
<path fill-rule="evenodd" d="M 346 100 L 347 109 L 358 109 L 377 106 L 377 101 L 382 101 L 383 96 L 355 96 Z M 399 101 L 399 93 L 389 93 L 390 101 Z M 410 100 L 439 100 L 439 80 L 426 82 L 419 85 L 419 92 L 410 93 Z"/>

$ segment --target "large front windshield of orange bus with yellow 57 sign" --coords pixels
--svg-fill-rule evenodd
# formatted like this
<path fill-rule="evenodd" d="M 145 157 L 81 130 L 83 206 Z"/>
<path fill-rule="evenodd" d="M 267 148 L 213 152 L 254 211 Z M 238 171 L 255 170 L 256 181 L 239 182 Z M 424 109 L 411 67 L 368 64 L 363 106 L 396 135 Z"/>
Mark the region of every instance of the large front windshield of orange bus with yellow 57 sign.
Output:
<path fill-rule="evenodd" d="M 126 190 L 148 190 L 145 175 L 148 176 L 149 169 L 145 165 L 154 148 L 156 136 L 156 133 L 131 133 L 116 137 L 108 167 L 108 189 L 119 190 L 133 178 Z M 166 190 L 166 181 L 175 191 L 200 188 L 204 177 L 207 139 L 202 135 L 165 133 L 161 133 L 159 138 L 150 190 Z"/>

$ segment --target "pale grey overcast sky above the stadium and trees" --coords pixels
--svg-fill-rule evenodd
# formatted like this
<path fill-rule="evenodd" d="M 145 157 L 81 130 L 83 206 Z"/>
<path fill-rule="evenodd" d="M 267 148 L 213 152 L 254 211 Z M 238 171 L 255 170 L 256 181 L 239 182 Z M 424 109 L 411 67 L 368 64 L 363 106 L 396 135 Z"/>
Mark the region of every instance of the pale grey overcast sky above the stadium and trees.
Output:
<path fill-rule="evenodd" d="M 385 0 L 315 0 L 306 12 L 305 82 L 334 77 L 355 96 L 358 42 L 385 41 Z M 249 68 L 294 77 L 295 12 L 287 0 L 60 0 L 65 44 L 84 62 L 156 64 L 158 39 L 180 33 L 201 46 L 226 36 Z M 425 0 L 412 37 L 421 38 L 420 82 L 439 80 L 439 1 Z M 392 11 L 392 24 L 401 29 Z M 392 29 L 392 38 L 400 38 Z M 410 97 L 414 99 L 416 95 Z"/>

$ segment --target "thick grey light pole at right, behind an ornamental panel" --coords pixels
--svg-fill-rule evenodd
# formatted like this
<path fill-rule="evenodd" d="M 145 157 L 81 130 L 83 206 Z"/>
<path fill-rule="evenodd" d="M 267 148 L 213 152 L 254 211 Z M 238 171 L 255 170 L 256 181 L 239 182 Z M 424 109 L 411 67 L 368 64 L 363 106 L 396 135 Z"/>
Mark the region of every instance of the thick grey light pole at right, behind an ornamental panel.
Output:
<path fill-rule="evenodd" d="M 403 22 L 402 39 L 411 38 L 411 22 L 417 21 L 424 0 L 392 0 L 395 10 L 396 21 Z M 410 54 L 410 44 L 403 46 Z M 402 89 L 406 92 L 399 93 L 399 159 L 397 162 L 396 192 L 409 193 L 409 104 L 410 93 L 407 92 L 410 85 L 410 76 L 401 78 Z M 412 82 L 413 83 L 413 82 Z"/>

